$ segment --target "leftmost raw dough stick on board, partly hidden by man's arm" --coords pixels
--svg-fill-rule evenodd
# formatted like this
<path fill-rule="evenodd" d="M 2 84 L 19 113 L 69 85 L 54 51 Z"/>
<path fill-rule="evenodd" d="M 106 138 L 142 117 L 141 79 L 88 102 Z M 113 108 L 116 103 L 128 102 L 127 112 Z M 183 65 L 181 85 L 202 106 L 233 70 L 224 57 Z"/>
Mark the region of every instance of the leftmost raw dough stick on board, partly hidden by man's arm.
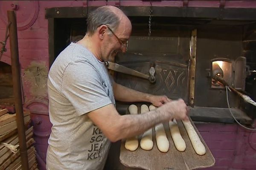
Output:
<path fill-rule="evenodd" d="M 128 107 L 130 114 L 138 114 L 138 107 L 136 105 L 130 105 Z M 134 136 L 126 139 L 125 149 L 134 151 L 139 147 L 138 137 Z"/>

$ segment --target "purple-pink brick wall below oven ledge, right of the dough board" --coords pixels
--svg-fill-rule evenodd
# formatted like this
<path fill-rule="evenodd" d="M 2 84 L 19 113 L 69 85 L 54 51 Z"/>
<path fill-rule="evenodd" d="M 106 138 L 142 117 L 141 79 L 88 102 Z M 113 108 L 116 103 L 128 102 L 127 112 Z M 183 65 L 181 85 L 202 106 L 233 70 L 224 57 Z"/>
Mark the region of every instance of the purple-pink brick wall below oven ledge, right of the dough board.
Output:
<path fill-rule="evenodd" d="M 215 158 L 215 165 L 205 170 L 256 170 L 256 131 L 238 124 L 195 125 Z"/>

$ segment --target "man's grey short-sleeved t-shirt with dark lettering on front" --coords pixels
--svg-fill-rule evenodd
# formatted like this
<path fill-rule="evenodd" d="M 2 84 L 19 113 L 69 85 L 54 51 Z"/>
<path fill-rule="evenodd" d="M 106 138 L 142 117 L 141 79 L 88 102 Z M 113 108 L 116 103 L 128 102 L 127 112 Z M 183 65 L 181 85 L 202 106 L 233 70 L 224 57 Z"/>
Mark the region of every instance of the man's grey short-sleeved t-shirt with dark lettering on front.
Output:
<path fill-rule="evenodd" d="M 113 104 L 112 78 L 103 62 L 71 43 L 49 71 L 47 170 L 102 170 L 110 141 L 86 113 Z"/>

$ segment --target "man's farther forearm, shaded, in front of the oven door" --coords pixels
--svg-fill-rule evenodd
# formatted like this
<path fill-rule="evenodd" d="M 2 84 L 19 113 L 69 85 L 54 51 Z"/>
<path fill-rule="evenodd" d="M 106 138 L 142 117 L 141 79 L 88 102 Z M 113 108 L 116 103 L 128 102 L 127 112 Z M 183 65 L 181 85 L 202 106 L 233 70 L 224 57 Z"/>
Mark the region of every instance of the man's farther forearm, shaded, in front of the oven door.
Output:
<path fill-rule="evenodd" d="M 121 102 L 151 102 L 151 94 L 142 93 L 117 83 L 113 84 L 113 91 L 115 99 Z"/>

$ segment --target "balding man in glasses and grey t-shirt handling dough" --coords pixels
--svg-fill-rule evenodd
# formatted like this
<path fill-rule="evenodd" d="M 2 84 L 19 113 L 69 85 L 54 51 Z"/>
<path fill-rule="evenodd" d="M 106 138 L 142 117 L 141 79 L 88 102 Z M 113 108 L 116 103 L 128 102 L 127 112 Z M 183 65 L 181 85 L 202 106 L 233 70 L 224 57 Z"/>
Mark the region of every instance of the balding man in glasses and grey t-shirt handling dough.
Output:
<path fill-rule="evenodd" d="M 139 135 L 160 122 L 188 119 L 182 99 L 141 93 L 113 81 L 105 62 L 127 50 L 131 22 L 116 7 L 102 6 L 87 18 L 87 33 L 55 59 L 49 71 L 52 132 L 47 170 L 102 170 L 111 142 Z M 115 100 L 151 102 L 158 108 L 120 115 Z"/>

